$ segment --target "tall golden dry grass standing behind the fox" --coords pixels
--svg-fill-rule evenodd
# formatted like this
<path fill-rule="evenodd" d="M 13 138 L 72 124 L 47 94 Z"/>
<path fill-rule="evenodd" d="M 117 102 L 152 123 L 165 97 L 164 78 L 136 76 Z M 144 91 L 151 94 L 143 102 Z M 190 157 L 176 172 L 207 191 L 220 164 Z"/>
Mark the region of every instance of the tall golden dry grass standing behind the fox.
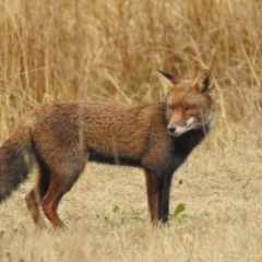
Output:
<path fill-rule="evenodd" d="M 219 139 L 230 123 L 261 124 L 261 1 L 21 0 L 0 11 L 0 139 L 52 99 L 163 99 L 157 68 L 212 70 Z"/>

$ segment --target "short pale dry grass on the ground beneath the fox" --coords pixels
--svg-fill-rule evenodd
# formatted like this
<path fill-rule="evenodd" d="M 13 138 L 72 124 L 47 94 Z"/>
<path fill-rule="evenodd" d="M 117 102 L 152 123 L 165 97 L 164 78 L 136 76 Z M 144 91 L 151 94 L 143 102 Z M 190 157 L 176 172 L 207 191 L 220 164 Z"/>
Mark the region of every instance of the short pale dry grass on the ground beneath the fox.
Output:
<path fill-rule="evenodd" d="M 243 152 L 243 147 L 249 151 Z M 0 205 L 5 261 L 214 261 L 262 259 L 261 148 L 200 146 L 177 172 L 168 227 L 150 225 L 142 170 L 90 164 L 60 204 L 66 231 L 35 230 L 27 181 Z M 34 178 L 34 176 L 32 176 Z M 181 183 L 182 182 L 182 183 Z M 50 225 L 49 225 L 50 228 Z M 10 257 L 10 258 L 9 258 Z"/>

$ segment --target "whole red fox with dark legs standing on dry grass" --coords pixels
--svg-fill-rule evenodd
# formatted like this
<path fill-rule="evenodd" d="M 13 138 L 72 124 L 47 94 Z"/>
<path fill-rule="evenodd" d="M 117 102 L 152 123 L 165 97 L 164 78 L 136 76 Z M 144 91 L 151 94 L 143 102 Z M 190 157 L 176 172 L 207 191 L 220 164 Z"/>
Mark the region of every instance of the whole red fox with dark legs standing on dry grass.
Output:
<path fill-rule="evenodd" d="M 26 206 L 39 227 L 45 227 L 39 205 L 52 226 L 61 227 L 59 201 L 87 160 L 128 165 L 144 169 L 151 222 L 166 223 L 172 175 L 210 132 L 215 103 L 209 70 L 194 81 L 157 73 L 167 93 L 164 103 L 63 100 L 22 116 L 0 147 L 0 202 L 37 164 Z"/>

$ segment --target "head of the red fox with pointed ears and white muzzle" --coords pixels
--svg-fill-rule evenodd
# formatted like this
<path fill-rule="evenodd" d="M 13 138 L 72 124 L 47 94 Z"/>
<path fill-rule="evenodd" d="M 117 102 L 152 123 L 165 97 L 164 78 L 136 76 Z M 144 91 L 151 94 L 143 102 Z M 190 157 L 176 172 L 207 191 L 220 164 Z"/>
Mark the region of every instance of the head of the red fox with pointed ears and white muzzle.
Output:
<path fill-rule="evenodd" d="M 215 118 L 211 72 L 203 70 L 194 81 L 178 80 L 163 71 L 157 74 L 166 94 L 168 132 L 175 136 L 196 129 L 207 132 Z"/>

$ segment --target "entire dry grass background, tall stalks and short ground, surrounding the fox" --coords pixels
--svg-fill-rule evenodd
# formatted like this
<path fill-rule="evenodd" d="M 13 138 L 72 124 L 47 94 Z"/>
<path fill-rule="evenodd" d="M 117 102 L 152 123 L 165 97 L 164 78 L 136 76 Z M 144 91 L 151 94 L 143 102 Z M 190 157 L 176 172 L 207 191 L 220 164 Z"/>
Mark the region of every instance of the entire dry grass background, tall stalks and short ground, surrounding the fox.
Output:
<path fill-rule="evenodd" d="M 174 178 L 168 227 L 150 225 L 142 170 L 91 164 L 59 206 L 68 229 L 35 230 L 32 174 L 0 205 L 0 261 L 262 261 L 261 1 L 5 0 L 0 12 L 1 142 L 51 100 L 163 100 L 155 69 L 210 68 L 217 100 Z"/>

